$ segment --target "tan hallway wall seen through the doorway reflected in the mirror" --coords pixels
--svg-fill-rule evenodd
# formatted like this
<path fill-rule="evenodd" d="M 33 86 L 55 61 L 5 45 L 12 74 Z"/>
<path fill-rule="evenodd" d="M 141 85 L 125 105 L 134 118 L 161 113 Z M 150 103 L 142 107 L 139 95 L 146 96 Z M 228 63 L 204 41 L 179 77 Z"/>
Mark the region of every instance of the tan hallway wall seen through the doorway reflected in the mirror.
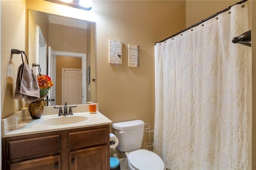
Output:
<path fill-rule="evenodd" d="M 81 57 L 56 56 L 56 105 L 62 101 L 62 68 L 82 69 Z"/>

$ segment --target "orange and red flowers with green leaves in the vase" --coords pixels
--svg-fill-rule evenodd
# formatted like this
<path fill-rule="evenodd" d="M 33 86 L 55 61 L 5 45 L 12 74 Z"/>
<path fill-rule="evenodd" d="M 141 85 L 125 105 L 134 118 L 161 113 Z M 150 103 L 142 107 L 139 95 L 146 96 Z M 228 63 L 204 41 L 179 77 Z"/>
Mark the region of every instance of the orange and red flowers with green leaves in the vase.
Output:
<path fill-rule="evenodd" d="M 46 97 L 49 89 L 54 85 L 51 77 L 41 74 L 37 77 L 37 82 L 40 88 L 40 98 Z"/>

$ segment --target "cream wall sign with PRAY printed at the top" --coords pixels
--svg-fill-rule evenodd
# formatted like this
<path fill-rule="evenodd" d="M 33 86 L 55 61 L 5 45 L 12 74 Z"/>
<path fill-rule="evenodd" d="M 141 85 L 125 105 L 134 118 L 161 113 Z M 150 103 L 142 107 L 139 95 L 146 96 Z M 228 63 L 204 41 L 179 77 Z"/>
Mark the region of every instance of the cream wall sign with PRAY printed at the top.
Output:
<path fill-rule="evenodd" d="M 140 67 L 140 46 L 139 45 L 128 45 L 129 54 L 129 67 Z"/>

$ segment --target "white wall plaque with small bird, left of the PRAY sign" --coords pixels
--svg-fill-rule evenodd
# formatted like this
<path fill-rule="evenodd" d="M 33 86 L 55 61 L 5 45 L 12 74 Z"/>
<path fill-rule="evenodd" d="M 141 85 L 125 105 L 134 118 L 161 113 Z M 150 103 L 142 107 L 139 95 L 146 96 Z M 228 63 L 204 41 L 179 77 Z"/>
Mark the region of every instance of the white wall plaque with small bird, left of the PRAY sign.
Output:
<path fill-rule="evenodd" d="M 122 41 L 109 39 L 109 63 L 122 64 Z"/>

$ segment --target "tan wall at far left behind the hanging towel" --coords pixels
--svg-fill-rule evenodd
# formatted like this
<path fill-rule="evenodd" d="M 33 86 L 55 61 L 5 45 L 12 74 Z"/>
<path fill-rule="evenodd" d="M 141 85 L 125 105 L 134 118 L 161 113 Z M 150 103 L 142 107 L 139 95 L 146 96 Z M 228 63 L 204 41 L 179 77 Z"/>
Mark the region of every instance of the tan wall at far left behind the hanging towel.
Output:
<path fill-rule="evenodd" d="M 14 100 L 13 92 L 20 54 L 11 58 L 11 48 L 25 50 L 25 1 L 1 0 L 1 118 L 25 107 L 24 100 Z M 8 70 L 8 71 L 7 71 Z"/>

